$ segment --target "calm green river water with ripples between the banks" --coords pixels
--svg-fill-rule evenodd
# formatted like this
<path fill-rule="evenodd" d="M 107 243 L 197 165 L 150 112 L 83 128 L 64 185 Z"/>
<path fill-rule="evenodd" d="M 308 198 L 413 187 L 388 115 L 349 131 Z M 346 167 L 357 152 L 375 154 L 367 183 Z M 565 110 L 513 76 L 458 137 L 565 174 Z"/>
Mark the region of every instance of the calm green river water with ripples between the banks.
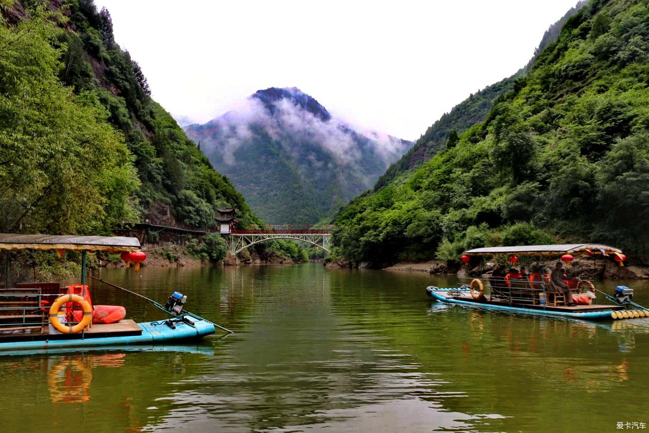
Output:
<path fill-rule="evenodd" d="M 602 324 L 437 303 L 454 277 L 320 264 L 103 269 L 235 331 L 0 356 L 1 432 L 619 430 L 649 423 L 649 319 Z M 649 304 L 648 282 L 624 283 Z M 136 321 L 151 304 L 93 282 Z M 601 301 L 601 300 L 600 300 Z M 625 427 L 625 429 L 628 429 Z"/>

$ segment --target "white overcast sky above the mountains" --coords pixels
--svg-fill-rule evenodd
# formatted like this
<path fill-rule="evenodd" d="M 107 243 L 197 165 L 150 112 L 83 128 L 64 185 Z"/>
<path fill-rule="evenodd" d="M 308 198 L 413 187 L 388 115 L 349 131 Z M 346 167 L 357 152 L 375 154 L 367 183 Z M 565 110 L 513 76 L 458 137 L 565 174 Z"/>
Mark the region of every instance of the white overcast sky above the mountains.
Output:
<path fill-rule="evenodd" d="M 356 125 L 414 140 L 524 66 L 577 0 L 95 0 L 152 95 L 205 122 L 298 87 Z"/>

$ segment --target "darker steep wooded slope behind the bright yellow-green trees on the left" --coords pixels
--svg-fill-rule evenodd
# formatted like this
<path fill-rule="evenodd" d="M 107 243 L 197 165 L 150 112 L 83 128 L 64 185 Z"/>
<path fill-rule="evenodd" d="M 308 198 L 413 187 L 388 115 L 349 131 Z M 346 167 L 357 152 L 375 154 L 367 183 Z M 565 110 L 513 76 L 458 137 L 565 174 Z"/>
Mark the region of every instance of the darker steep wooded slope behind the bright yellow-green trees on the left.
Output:
<path fill-rule="evenodd" d="M 151 99 L 140 66 L 113 38 L 108 11 L 97 12 L 92 0 L 68 3 L 74 32 L 62 36 L 69 49 L 61 80 L 95 94 L 123 132 L 141 181 L 136 195 L 142 212 L 168 204 L 180 223 L 203 227 L 214 225 L 215 207 L 230 205 L 239 209 L 243 224 L 259 223 L 243 196 Z"/>

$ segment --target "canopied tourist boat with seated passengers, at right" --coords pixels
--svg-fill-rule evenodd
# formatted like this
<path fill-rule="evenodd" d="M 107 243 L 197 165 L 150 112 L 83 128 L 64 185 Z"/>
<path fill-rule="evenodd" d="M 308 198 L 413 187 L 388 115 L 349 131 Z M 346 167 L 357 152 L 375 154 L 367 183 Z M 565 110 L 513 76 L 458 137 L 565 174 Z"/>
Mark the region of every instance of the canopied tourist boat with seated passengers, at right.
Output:
<path fill-rule="evenodd" d="M 626 256 L 617 248 L 586 243 L 478 248 L 465 251 L 461 260 L 467 265 L 482 258 L 496 258 L 497 262 L 498 256 L 506 256 L 512 266 L 515 266 L 519 256 L 532 258 L 539 261 L 537 267 L 543 267 L 543 260 L 561 260 L 569 266 L 574 256 L 590 257 L 593 260 L 612 258 L 620 266 L 623 266 L 622 262 L 626 260 Z M 493 266 L 493 263 L 491 265 Z M 565 283 L 570 282 L 572 286 L 570 299 L 567 299 L 567 293 L 562 293 L 545 271 L 536 274 L 524 278 L 508 278 L 496 276 L 490 271 L 482 273 L 480 278 L 459 278 L 456 288 L 429 286 L 426 288 L 426 294 L 443 303 L 517 314 L 590 321 L 649 317 L 649 309 L 634 303 L 633 289 L 626 286 L 617 286 L 615 293 L 609 295 L 598 290 L 594 282 L 566 277 L 570 278 L 570 281 Z M 597 304 L 595 293 L 603 295 L 609 303 Z M 584 298 L 585 302 L 582 304 L 573 302 L 582 301 Z"/>

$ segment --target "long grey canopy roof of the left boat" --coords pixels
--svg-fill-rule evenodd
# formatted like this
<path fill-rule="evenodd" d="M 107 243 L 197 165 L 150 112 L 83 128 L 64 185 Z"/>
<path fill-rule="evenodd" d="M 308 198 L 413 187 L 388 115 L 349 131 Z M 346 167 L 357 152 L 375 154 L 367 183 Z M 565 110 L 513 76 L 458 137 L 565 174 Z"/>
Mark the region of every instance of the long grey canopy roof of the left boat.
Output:
<path fill-rule="evenodd" d="M 34 249 L 49 250 L 90 250 L 139 251 L 138 238 L 127 236 L 50 236 L 49 234 L 0 233 L 0 250 Z"/>

